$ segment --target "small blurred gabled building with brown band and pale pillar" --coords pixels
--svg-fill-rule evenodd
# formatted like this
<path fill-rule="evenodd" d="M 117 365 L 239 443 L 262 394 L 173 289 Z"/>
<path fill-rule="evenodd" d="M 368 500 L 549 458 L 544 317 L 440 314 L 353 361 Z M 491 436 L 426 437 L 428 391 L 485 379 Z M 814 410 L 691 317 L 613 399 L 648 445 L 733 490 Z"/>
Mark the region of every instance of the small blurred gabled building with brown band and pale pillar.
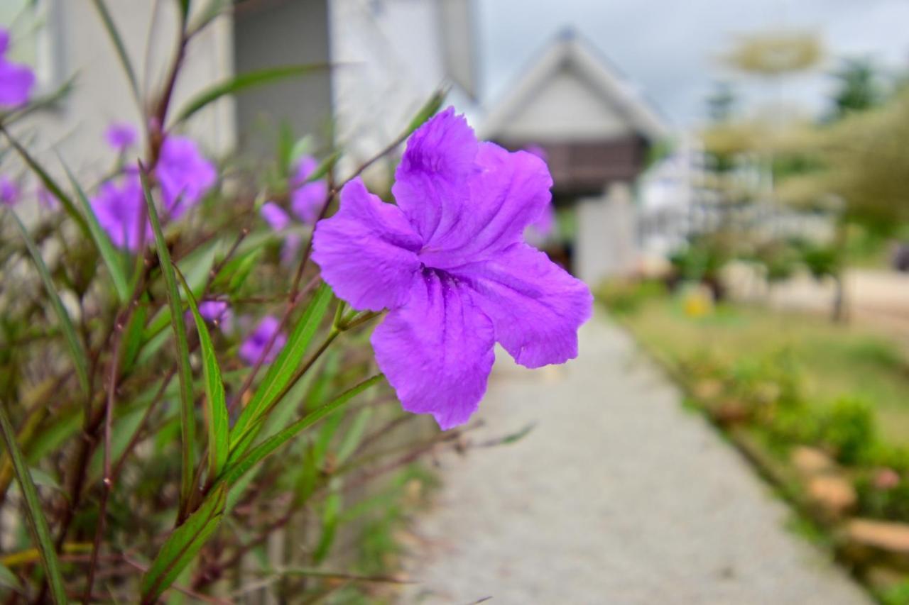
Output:
<path fill-rule="evenodd" d="M 627 273 L 638 258 L 633 186 L 667 134 L 643 94 L 594 47 L 565 30 L 495 104 L 484 138 L 542 147 L 554 203 L 573 225 L 564 262 L 587 283 Z M 559 254 L 559 251 L 554 251 Z"/>

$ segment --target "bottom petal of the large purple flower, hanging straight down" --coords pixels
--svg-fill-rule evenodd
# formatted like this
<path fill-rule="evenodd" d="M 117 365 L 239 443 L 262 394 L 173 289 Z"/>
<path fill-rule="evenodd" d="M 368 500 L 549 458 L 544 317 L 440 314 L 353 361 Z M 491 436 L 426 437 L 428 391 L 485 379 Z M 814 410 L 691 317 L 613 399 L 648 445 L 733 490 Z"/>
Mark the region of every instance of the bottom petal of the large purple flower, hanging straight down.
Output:
<path fill-rule="evenodd" d="M 388 313 L 372 342 L 406 411 L 433 414 L 444 431 L 476 411 L 494 362 L 493 324 L 452 276 L 421 273 L 410 300 Z"/>

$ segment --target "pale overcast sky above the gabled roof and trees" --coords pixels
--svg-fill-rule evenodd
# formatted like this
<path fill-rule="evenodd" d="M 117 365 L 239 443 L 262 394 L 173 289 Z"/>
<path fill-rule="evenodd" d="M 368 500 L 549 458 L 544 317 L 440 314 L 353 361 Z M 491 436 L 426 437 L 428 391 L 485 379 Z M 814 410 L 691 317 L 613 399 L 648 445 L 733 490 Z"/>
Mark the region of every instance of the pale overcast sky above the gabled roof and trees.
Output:
<path fill-rule="evenodd" d="M 784 84 L 787 103 L 818 111 L 830 92 L 824 75 L 840 56 L 871 56 L 909 67 L 909 0 L 476 0 L 482 96 L 488 104 L 566 26 L 578 30 L 644 90 L 671 124 L 704 118 L 713 83 L 730 79 L 716 60 L 735 35 L 797 28 L 823 37 L 822 73 Z M 761 104 L 744 84 L 751 105 Z"/>

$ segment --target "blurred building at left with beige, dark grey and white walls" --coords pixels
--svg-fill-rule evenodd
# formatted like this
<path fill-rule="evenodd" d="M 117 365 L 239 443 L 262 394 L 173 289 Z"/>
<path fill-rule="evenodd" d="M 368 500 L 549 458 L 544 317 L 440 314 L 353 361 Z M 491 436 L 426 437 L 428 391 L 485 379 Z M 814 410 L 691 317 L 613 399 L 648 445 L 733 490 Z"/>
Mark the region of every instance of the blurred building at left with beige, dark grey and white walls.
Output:
<path fill-rule="evenodd" d="M 177 3 L 107 2 L 144 94 L 165 81 L 176 49 Z M 193 3 L 194 15 L 209 2 Z M 475 95 L 473 7 L 469 0 L 240 0 L 186 49 L 173 110 L 234 74 L 311 64 L 302 77 L 223 98 L 196 114 L 192 134 L 208 154 L 270 154 L 279 127 L 314 134 L 322 149 L 345 149 L 357 164 L 391 143 L 441 85 L 455 104 Z M 191 18 L 191 22 L 192 22 Z M 89 0 L 3 0 L 0 25 L 13 56 L 35 67 L 38 94 L 70 78 L 73 90 L 35 114 L 37 152 L 59 151 L 76 167 L 102 169 L 103 132 L 138 124 L 140 112 L 114 46 Z"/>

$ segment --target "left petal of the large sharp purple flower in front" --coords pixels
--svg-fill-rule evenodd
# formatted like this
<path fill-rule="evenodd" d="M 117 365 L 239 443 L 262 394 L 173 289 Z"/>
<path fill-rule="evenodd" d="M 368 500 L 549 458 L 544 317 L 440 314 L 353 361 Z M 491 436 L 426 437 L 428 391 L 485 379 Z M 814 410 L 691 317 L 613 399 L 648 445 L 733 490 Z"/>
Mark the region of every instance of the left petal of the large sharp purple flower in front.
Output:
<path fill-rule="evenodd" d="M 380 311 L 407 301 L 421 245 L 401 209 L 366 191 L 357 178 L 341 190 L 338 212 L 315 226 L 313 260 L 352 307 Z"/>

